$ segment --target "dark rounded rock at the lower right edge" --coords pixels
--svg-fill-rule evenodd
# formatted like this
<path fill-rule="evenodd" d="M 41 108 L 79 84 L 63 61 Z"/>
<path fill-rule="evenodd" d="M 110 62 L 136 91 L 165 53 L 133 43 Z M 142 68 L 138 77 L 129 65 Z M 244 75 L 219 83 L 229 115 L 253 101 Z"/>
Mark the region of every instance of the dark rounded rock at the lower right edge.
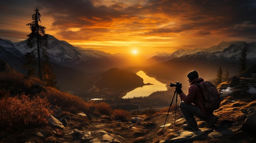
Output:
<path fill-rule="evenodd" d="M 256 113 L 250 114 L 241 126 L 241 130 L 246 132 L 256 132 Z"/>

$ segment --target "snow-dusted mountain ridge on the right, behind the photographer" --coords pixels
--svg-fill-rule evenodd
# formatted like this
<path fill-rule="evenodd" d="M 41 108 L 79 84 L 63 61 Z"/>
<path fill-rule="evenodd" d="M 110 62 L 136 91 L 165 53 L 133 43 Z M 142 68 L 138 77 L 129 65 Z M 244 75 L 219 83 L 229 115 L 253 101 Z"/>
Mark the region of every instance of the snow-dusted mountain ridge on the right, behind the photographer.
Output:
<path fill-rule="evenodd" d="M 159 53 L 148 59 L 147 62 L 153 64 L 157 62 L 165 62 L 174 59 L 175 61 L 194 61 L 194 62 L 220 62 L 220 61 L 238 61 L 240 53 L 244 47 L 247 47 L 247 59 L 249 61 L 256 60 L 256 44 L 230 41 L 220 42 L 217 46 L 211 46 L 210 48 L 201 49 L 179 49 L 173 53 Z"/>

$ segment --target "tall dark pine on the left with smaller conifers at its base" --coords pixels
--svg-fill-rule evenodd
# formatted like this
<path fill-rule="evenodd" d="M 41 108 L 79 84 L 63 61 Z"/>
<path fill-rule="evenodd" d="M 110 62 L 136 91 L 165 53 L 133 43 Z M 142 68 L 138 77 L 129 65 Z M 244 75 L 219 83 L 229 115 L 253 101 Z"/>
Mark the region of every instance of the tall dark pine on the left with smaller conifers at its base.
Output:
<path fill-rule="evenodd" d="M 27 35 L 27 48 L 35 48 L 33 51 L 26 53 L 27 62 L 24 67 L 29 68 L 27 75 L 34 76 L 38 69 L 38 77 L 48 86 L 56 87 L 56 76 L 49 65 L 49 57 L 47 56 L 47 48 L 49 48 L 48 38 L 45 34 L 45 27 L 39 25 L 39 10 L 36 8 L 35 14 L 32 15 L 32 22 L 27 24 L 30 26 L 31 33 Z M 37 58 L 37 61 L 36 61 Z M 37 68 L 36 68 L 37 67 Z"/>

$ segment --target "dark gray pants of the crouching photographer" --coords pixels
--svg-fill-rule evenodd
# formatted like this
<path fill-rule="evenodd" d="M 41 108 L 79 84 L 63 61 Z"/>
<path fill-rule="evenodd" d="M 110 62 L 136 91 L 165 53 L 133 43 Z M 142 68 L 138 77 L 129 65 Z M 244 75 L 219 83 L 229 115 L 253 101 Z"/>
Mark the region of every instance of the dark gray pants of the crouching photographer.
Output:
<path fill-rule="evenodd" d="M 191 127 L 197 128 L 198 124 L 195 121 L 195 117 L 198 117 L 199 119 L 206 121 L 207 120 L 207 114 L 204 114 L 201 112 L 200 108 L 198 106 L 195 106 L 193 104 L 187 104 L 185 102 L 180 102 L 180 110 L 188 122 L 188 124 Z"/>

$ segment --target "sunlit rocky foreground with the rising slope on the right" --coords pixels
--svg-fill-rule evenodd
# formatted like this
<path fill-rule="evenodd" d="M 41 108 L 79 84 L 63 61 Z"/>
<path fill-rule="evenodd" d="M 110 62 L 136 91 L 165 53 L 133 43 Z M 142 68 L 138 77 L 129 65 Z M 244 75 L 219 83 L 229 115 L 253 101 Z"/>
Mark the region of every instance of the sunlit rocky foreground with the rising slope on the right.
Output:
<path fill-rule="evenodd" d="M 183 130 L 182 113 L 172 107 L 153 116 L 131 112 L 114 121 L 102 114 L 59 111 L 47 126 L 0 130 L 0 143 L 252 143 L 256 142 L 256 66 L 218 86 L 222 103 L 214 128 L 198 121 L 199 130 Z M 168 107 L 167 107 L 168 108 Z M 166 121 L 166 124 L 164 124 Z M 163 128 L 164 125 L 164 128 Z"/>

